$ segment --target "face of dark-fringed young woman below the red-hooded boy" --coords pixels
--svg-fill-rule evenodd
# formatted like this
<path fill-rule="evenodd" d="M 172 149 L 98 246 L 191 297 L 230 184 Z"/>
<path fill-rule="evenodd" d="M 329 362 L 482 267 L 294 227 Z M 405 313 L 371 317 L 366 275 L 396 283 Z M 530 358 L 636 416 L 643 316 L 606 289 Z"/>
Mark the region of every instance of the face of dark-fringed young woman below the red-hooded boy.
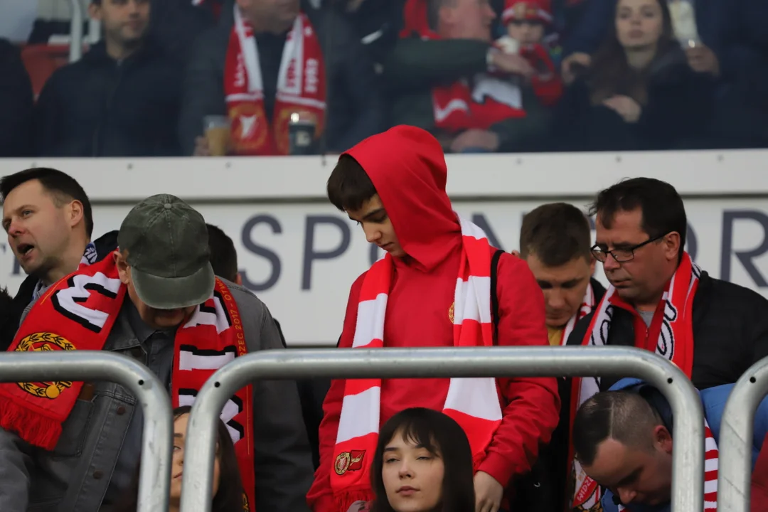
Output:
<path fill-rule="evenodd" d="M 382 480 L 396 512 L 428 512 L 442 500 L 442 457 L 402 437 L 398 431 L 382 457 Z"/>

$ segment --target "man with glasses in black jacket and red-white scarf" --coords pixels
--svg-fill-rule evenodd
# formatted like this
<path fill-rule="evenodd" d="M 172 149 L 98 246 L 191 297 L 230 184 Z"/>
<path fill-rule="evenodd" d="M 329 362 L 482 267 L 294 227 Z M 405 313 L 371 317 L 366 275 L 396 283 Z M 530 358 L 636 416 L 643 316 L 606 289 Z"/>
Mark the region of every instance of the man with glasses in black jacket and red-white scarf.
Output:
<path fill-rule="evenodd" d="M 598 193 L 591 211 L 597 214 L 592 253 L 604 262 L 611 282 L 608 292 L 615 292 L 609 301 L 613 316 L 605 344 L 641 346 L 642 339 L 650 339 L 648 346 L 671 357 L 661 345 L 666 341 L 672 346 L 680 340 L 674 327 L 659 321 L 665 306 L 667 314 L 675 306 L 684 315 L 673 304 L 670 291 L 670 281 L 690 260 L 684 251 L 683 200 L 669 183 L 634 178 Z M 731 384 L 768 356 L 768 300 L 743 286 L 714 279 L 695 263 L 693 268 L 694 276 L 699 275 L 689 319 L 694 342 L 690 378 L 699 389 Z M 588 315 L 578 323 L 568 345 L 583 344 L 591 319 Z M 654 332 L 657 323 L 662 324 L 661 334 Z M 656 340 L 658 345 L 653 343 Z M 601 379 L 601 391 L 616 380 Z"/>

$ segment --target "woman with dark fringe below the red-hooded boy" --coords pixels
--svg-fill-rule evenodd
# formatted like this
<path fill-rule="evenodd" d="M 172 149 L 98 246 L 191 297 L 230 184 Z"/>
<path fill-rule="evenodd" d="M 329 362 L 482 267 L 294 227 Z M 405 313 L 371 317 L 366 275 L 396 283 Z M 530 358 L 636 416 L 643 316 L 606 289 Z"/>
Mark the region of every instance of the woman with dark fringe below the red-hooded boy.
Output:
<path fill-rule="evenodd" d="M 389 418 L 373 456 L 372 512 L 475 512 L 472 451 L 442 412 L 409 408 Z"/>

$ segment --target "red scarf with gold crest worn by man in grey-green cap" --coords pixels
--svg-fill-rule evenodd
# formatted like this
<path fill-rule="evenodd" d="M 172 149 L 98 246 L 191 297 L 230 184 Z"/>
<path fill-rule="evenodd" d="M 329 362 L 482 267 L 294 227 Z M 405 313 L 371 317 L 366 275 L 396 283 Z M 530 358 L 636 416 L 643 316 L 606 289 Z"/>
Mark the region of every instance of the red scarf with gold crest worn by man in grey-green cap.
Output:
<path fill-rule="evenodd" d="M 126 286 L 114 258 L 82 265 L 56 282 L 35 302 L 8 351 L 101 350 L 118 318 Z M 238 355 L 247 353 L 240 313 L 227 286 L 216 279 L 214 294 L 197 306 L 174 340 L 171 400 L 191 405 L 206 379 Z M 80 395 L 83 382 L 0 384 L 0 426 L 29 444 L 53 450 Z M 253 391 L 237 391 L 224 407 L 222 421 L 232 435 L 243 479 L 243 506 L 254 512 Z"/>

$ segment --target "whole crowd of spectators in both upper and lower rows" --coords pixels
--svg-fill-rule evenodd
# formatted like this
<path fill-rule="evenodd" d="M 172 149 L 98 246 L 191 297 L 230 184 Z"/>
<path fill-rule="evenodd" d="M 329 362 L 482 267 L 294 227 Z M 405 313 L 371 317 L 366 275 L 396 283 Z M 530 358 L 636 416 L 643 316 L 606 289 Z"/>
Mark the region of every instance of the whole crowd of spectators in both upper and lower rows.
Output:
<path fill-rule="evenodd" d="M 68 21 L 0 41 L 0 157 L 339 154 L 329 202 L 386 256 L 353 282 L 337 347 L 655 352 L 699 390 L 717 510 L 723 407 L 768 357 L 768 300 L 697 266 L 669 183 L 618 181 L 586 215 L 542 204 L 505 253 L 453 210 L 445 154 L 768 147 L 768 3 L 91 0 L 88 14 L 101 38 L 69 64 L 48 65 Z M 173 193 L 97 238 L 66 173 L 2 177 L 27 278 L 0 293 L 0 349 L 105 350 L 154 372 L 174 406 L 177 512 L 201 385 L 286 341 L 232 239 Z M 116 383 L 0 384 L 0 510 L 135 512 L 143 414 Z M 262 380 L 220 419 L 215 512 L 670 510 L 674 418 L 637 379 Z M 768 401 L 753 512 L 768 510 L 766 438 Z"/>

